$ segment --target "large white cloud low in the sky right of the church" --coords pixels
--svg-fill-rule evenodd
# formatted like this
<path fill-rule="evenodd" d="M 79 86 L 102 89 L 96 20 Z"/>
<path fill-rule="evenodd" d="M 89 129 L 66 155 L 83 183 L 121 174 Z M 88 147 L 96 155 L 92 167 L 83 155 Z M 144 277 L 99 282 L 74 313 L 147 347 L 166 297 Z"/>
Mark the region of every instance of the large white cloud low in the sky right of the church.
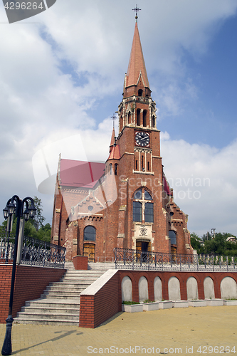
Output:
<path fill-rule="evenodd" d="M 222 150 L 162 137 L 164 172 L 177 204 L 189 214 L 189 229 L 236 234 L 237 140 Z"/>

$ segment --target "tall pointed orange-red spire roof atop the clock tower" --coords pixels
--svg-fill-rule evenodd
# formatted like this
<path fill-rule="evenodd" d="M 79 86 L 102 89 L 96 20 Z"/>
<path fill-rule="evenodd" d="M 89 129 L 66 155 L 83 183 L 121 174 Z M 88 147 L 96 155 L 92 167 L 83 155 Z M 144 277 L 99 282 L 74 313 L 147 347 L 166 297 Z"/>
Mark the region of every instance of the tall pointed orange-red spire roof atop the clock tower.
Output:
<path fill-rule="evenodd" d="M 127 78 L 125 86 L 126 88 L 130 85 L 137 85 L 137 80 L 139 75 L 142 75 L 144 81 L 144 86 L 149 88 L 149 81 L 147 78 L 147 70 L 144 63 L 142 45 L 139 37 L 139 31 L 137 27 L 137 22 L 135 24 L 135 32 L 132 41 L 132 51 L 130 54 L 130 63 L 127 69 Z"/>

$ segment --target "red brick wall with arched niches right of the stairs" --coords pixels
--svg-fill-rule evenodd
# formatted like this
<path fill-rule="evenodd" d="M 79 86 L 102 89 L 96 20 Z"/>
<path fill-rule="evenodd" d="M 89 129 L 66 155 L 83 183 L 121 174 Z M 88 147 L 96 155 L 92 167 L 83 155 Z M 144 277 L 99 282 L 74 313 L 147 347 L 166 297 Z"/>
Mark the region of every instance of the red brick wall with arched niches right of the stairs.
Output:
<path fill-rule="evenodd" d="M 204 299 L 204 279 L 206 277 L 210 277 L 214 281 L 215 298 L 221 298 L 221 281 L 223 278 L 231 277 L 237 283 L 237 273 L 234 272 L 211 273 L 117 270 L 114 276 L 108 281 L 105 281 L 104 284 L 99 283 L 100 288 L 95 290 L 95 293 L 91 293 L 91 287 L 93 288 L 93 285 L 89 287 L 90 290 L 87 288 L 83 291 L 83 294 L 80 296 L 80 327 L 96 328 L 116 313 L 122 311 L 121 283 L 122 278 L 125 276 L 130 277 L 132 281 L 132 300 L 135 302 L 139 302 L 139 278 L 142 276 L 147 278 L 148 298 L 150 300 L 154 300 L 154 278 L 157 276 L 162 281 L 162 297 L 164 300 L 169 300 L 168 282 L 171 277 L 177 277 L 179 279 L 181 300 L 187 299 L 186 281 L 189 277 L 196 278 L 199 299 Z"/>

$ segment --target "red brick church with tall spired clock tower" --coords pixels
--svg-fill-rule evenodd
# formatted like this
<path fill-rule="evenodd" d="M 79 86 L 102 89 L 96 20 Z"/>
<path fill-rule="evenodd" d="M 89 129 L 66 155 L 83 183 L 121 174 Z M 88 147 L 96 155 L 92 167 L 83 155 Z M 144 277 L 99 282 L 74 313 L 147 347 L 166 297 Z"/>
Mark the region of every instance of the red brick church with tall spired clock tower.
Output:
<path fill-rule="evenodd" d="M 187 215 L 175 204 L 164 175 L 137 21 L 105 164 L 59 159 L 52 243 L 67 259 L 112 261 L 113 249 L 193 253 Z"/>

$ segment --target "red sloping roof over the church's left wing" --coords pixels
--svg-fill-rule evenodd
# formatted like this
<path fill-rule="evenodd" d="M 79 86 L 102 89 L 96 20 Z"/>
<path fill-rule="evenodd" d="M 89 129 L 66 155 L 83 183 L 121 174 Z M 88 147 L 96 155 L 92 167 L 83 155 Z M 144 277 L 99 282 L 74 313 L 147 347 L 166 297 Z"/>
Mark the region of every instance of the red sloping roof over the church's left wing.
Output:
<path fill-rule="evenodd" d="M 105 163 L 60 159 L 60 185 L 92 189 L 104 170 Z"/>

